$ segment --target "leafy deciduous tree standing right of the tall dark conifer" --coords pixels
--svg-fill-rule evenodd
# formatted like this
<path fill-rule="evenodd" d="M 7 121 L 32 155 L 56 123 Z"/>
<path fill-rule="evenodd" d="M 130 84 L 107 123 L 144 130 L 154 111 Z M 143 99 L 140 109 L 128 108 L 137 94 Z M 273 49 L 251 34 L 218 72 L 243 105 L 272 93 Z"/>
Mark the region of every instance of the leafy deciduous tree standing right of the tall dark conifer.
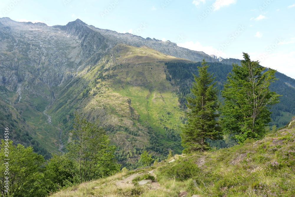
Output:
<path fill-rule="evenodd" d="M 251 61 L 243 53 L 241 66 L 233 64 L 232 73 L 227 76 L 222 96 L 222 129 L 234 134 L 238 143 L 247 138 L 260 139 L 265 127 L 271 121 L 270 107 L 279 102 L 279 96 L 268 86 L 276 80 L 276 70 L 264 68 L 258 61 Z"/>

